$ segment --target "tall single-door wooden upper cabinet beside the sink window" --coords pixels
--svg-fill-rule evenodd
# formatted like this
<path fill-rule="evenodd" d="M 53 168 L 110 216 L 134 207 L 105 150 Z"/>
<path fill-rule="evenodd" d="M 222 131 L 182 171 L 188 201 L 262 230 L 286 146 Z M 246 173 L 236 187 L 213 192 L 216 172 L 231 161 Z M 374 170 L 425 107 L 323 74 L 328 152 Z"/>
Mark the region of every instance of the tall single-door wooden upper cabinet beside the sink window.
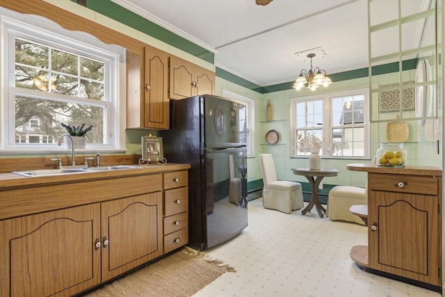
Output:
<path fill-rule="evenodd" d="M 169 129 L 168 57 L 145 44 L 127 53 L 128 129 Z"/>

